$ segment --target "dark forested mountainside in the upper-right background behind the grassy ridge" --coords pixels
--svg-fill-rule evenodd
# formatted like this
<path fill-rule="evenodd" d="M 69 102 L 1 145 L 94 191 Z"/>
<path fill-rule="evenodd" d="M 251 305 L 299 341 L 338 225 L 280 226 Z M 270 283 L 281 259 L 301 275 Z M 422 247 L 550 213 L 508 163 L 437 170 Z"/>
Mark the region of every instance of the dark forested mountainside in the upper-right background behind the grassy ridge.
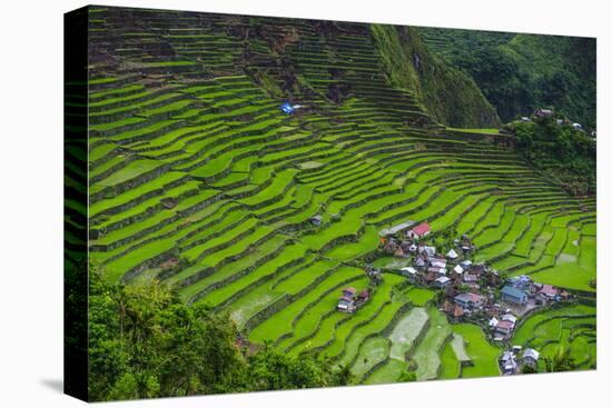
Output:
<path fill-rule="evenodd" d="M 467 73 L 504 122 L 541 107 L 596 126 L 594 39 L 418 28 L 427 46 Z"/>

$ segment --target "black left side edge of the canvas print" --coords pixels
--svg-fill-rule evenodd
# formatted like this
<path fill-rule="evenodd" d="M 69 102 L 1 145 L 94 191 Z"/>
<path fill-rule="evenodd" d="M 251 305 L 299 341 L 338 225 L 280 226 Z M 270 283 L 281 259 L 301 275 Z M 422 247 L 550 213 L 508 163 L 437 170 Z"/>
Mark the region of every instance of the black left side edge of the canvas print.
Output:
<path fill-rule="evenodd" d="M 88 400 L 88 8 L 63 16 L 63 391 Z"/>

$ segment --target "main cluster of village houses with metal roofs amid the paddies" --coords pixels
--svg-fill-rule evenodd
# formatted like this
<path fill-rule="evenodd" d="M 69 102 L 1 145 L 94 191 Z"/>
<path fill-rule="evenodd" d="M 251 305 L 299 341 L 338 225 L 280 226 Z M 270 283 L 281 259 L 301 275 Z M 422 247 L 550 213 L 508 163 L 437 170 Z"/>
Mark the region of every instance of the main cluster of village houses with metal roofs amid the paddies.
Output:
<path fill-rule="evenodd" d="M 430 225 L 413 225 L 407 221 L 383 230 L 383 251 L 411 263 L 399 270 L 411 283 L 443 290 L 441 309 L 452 320 L 476 322 L 494 341 L 510 340 L 517 319 L 526 311 L 570 297 L 527 276 L 504 279 L 488 265 L 473 262 L 470 258 L 476 248 L 465 235 L 445 253 L 438 253 L 426 243 L 432 233 Z"/>

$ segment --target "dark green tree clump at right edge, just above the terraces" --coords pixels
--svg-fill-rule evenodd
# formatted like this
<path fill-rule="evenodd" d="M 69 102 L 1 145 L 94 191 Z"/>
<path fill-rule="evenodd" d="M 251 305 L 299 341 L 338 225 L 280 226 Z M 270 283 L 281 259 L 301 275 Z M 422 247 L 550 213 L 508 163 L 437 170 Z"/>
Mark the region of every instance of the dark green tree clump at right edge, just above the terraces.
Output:
<path fill-rule="evenodd" d="M 513 122 L 519 152 L 571 195 L 594 195 L 596 143 L 583 131 L 556 125 L 554 118 Z"/>

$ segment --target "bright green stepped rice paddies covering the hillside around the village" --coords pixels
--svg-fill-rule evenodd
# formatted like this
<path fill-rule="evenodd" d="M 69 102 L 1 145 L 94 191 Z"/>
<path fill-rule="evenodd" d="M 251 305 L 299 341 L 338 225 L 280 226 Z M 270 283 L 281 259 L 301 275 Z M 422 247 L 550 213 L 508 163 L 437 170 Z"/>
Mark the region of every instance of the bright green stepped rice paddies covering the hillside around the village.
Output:
<path fill-rule="evenodd" d="M 367 26 L 322 37 L 306 20 L 135 10 L 136 29 L 91 12 L 89 249 L 109 281 L 160 279 L 251 342 L 317 350 L 368 384 L 500 374 L 477 326 L 450 324 L 399 275 L 356 314 L 335 310 L 340 289 L 367 287 L 383 228 L 426 220 L 501 271 L 594 292 L 594 198 L 550 185 L 496 131 L 436 125 L 387 84 Z M 280 112 L 283 92 L 305 108 Z M 534 315 L 516 339 L 594 361 L 581 326 L 594 310 L 572 310 L 525 332 Z"/>

